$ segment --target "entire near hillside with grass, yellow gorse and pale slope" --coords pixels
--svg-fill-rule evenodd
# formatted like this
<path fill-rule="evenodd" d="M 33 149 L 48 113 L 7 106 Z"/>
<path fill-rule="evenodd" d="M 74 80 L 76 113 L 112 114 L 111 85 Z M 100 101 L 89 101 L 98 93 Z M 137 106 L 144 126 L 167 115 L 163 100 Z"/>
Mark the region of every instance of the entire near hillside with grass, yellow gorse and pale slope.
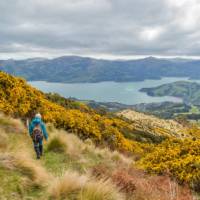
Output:
<path fill-rule="evenodd" d="M 4 199 L 190 200 L 200 193 L 197 125 L 99 112 L 4 72 L 0 97 L 2 113 L 24 121 L 41 112 L 50 133 L 37 162 L 22 122 L 0 116 Z"/>

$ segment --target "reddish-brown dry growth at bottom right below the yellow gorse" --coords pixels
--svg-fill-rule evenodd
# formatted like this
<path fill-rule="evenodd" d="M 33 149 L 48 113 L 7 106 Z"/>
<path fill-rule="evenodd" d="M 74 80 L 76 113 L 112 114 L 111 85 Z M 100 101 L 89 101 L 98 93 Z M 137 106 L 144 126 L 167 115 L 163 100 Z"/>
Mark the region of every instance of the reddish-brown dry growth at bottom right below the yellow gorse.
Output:
<path fill-rule="evenodd" d="M 147 176 L 143 171 L 130 169 L 136 190 L 130 200 L 192 200 L 192 193 L 186 186 L 180 186 L 168 176 Z"/>

